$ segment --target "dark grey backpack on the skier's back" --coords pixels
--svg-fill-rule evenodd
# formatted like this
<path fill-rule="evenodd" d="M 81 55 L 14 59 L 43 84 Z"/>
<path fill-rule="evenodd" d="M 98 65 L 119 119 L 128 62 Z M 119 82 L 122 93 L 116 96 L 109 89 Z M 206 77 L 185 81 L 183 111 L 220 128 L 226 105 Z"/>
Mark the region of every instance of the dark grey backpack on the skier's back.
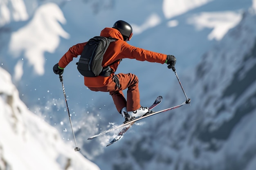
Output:
<path fill-rule="evenodd" d="M 77 69 L 85 77 L 97 77 L 99 75 L 108 77 L 111 74 L 110 66 L 102 67 L 103 55 L 114 38 L 96 36 L 91 38 L 83 48 Z M 110 64 L 112 65 L 112 64 Z"/>

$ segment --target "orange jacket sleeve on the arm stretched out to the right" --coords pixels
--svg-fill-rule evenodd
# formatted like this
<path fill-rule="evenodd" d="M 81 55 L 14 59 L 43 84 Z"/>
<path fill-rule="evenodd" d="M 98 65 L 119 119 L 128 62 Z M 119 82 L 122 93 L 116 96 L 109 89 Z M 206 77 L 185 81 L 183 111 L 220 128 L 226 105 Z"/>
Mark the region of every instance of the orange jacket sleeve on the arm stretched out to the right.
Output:
<path fill-rule="evenodd" d="M 124 42 L 121 46 L 121 55 L 124 58 L 136 59 L 139 61 L 157 62 L 161 64 L 164 64 L 167 57 L 166 54 L 156 53 L 131 46 L 127 42 Z"/>

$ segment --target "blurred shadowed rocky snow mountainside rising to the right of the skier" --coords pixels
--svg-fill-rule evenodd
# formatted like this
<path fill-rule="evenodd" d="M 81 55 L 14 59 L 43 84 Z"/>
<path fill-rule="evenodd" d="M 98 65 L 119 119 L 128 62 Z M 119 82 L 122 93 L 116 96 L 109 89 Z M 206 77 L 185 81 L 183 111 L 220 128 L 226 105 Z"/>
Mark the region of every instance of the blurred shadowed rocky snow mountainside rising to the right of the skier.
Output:
<path fill-rule="evenodd" d="M 112 169 L 255 170 L 255 73 L 256 13 L 249 9 L 184 76 L 191 106 L 126 134 Z"/>

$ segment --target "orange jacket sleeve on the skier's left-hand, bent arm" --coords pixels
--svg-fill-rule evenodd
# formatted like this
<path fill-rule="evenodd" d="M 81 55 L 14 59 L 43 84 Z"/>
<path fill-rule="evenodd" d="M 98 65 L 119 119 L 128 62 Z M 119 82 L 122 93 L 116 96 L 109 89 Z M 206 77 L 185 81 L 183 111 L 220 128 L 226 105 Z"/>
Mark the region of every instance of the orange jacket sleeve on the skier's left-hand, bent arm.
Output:
<path fill-rule="evenodd" d="M 87 42 L 84 42 L 70 47 L 67 53 L 65 53 L 63 57 L 61 57 L 60 61 L 58 62 L 58 65 L 62 68 L 65 68 L 67 64 L 69 64 L 73 60 L 74 57 L 81 55 L 81 53 L 83 52 L 83 47 L 86 43 Z"/>

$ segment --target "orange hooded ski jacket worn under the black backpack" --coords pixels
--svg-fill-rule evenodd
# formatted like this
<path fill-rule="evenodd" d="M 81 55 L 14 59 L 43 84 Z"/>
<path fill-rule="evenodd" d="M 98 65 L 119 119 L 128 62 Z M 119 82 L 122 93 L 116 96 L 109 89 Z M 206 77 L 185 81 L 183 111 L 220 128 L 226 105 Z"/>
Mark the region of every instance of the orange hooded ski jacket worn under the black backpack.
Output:
<path fill-rule="evenodd" d="M 114 28 L 105 28 L 101 31 L 100 36 L 103 37 L 112 37 L 117 39 L 115 42 L 111 42 L 106 50 L 106 53 L 103 55 L 102 66 L 108 66 L 109 64 L 123 59 L 123 58 L 130 58 L 136 59 L 139 61 L 148 61 L 148 62 L 157 62 L 164 64 L 166 61 L 166 54 L 155 53 L 153 51 L 144 50 L 141 48 L 137 48 L 135 46 L 131 46 L 127 42 L 124 41 L 123 36 L 121 33 Z M 58 65 L 62 68 L 65 68 L 67 64 L 69 64 L 74 57 L 81 55 L 83 51 L 83 47 L 86 45 L 87 42 L 76 44 L 72 46 L 67 53 L 61 57 L 58 62 Z M 115 74 L 119 62 L 115 62 L 110 66 L 112 68 L 112 75 Z M 84 77 L 84 84 L 88 87 L 103 87 L 108 84 L 108 81 L 112 79 L 112 75 L 109 77 L 97 76 L 97 77 Z"/>

